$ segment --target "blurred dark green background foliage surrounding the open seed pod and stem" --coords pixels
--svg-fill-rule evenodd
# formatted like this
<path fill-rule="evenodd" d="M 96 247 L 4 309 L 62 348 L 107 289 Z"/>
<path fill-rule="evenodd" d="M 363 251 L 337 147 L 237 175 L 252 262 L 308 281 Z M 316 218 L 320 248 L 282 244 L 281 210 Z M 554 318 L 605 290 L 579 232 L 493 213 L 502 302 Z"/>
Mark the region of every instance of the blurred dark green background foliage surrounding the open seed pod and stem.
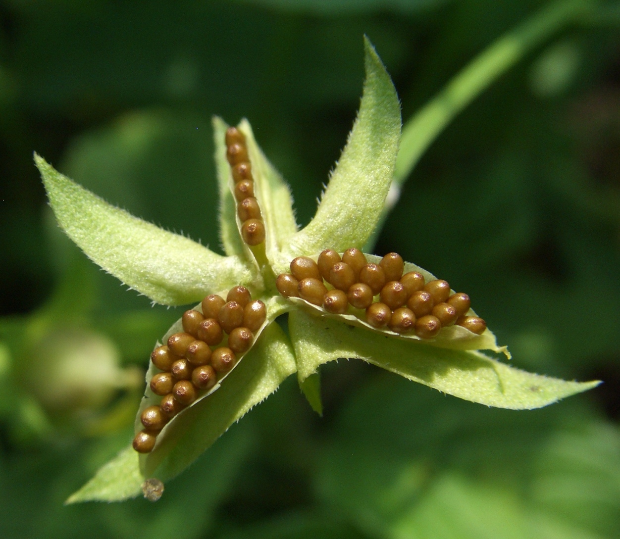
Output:
<path fill-rule="evenodd" d="M 308 222 L 355 117 L 366 33 L 406 120 L 526 0 L 0 1 L 0 537 L 620 535 L 620 6 L 529 53 L 441 134 L 376 247 L 474 298 L 513 363 L 604 385 L 537 411 L 359 361 L 293 379 L 161 501 L 63 506 L 123 447 L 152 307 L 56 227 L 32 152 L 219 249 L 210 118 L 246 116 Z"/>

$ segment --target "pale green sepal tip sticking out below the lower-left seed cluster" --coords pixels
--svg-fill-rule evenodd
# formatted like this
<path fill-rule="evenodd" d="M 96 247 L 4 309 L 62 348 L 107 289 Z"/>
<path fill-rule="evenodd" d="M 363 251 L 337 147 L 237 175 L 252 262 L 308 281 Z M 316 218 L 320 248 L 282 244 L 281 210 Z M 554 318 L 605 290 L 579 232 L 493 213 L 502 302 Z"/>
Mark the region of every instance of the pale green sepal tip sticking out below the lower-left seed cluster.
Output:
<path fill-rule="evenodd" d="M 130 445 L 99 468 L 94 477 L 79 491 L 71 494 L 64 503 L 123 501 L 138 496 L 143 481 L 144 477 L 138 465 L 138 454 Z"/>

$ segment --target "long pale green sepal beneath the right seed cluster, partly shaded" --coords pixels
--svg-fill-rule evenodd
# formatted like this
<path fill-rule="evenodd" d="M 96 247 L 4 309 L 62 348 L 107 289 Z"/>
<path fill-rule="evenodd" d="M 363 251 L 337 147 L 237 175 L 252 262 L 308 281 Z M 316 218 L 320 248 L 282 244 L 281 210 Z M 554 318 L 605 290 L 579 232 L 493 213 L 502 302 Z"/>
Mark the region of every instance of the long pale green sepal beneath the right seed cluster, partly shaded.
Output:
<path fill-rule="evenodd" d="M 392 339 L 299 310 L 288 320 L 301 379 L 328 361 L 357 357 L 454 397 L 511 410 L 540 408 L 600 383 L 531 374 L 476 351 Z"/>

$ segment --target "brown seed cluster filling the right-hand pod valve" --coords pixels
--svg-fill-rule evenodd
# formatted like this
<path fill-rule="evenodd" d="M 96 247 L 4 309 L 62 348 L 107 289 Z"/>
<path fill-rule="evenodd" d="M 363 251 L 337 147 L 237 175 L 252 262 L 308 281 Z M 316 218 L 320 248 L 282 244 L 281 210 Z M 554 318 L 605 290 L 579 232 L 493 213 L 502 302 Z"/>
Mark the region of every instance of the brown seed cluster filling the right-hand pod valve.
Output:
<path fill-rule="evenodd" d="M 404 262 L 397 253 L 369 264 L 356 248 L 346 250 L 342 258 L 326 249 L 318 263 L 299 256 L 290 267 L 291 273 L 280 274 L 276 281 L 282 296 L 301 297 L 333 314 L 346 313 L 349 305 L 365 309 L 366 322 L 375 328 L 415 331 L 423 339 L 455 323 L 478 335 L 487 328 L 482 318 L 466 316 L 471 305 L 467 294 L 451 294 L 450 285 L 441 279 L 426 283 L 417 271 L 403 275 Z M 328 291 L 323 280 L 334 289 Z"/>

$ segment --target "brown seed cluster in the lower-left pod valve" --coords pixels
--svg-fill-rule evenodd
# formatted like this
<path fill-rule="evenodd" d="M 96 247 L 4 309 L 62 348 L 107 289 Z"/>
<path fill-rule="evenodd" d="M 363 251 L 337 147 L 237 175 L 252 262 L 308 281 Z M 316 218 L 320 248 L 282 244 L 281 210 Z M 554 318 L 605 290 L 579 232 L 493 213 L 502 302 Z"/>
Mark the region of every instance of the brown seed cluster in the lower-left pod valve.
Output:
<path fill-rule="evenodd" d="M 202 312 L 185 311 L 184 332 L 171 335 L 167 344 L 151 354 L 154 366 L 162 372 L 153 376 L 150 386 L 162 400 L 141 414 L 144 430 L 133 439 L 133 449 L 139 453 L 153 450 L 157 434 L 166 423 L 234 367 L 238 357 L 252 346 L 254 333 L 267 315 L 265 304 L 252 301 L 244 286 L 232 288 L 226 300 L 211 294 L 202 300 L 201 307 Z M 224 334 L 228 335 L 226 346 L 218 346 Z"/>

